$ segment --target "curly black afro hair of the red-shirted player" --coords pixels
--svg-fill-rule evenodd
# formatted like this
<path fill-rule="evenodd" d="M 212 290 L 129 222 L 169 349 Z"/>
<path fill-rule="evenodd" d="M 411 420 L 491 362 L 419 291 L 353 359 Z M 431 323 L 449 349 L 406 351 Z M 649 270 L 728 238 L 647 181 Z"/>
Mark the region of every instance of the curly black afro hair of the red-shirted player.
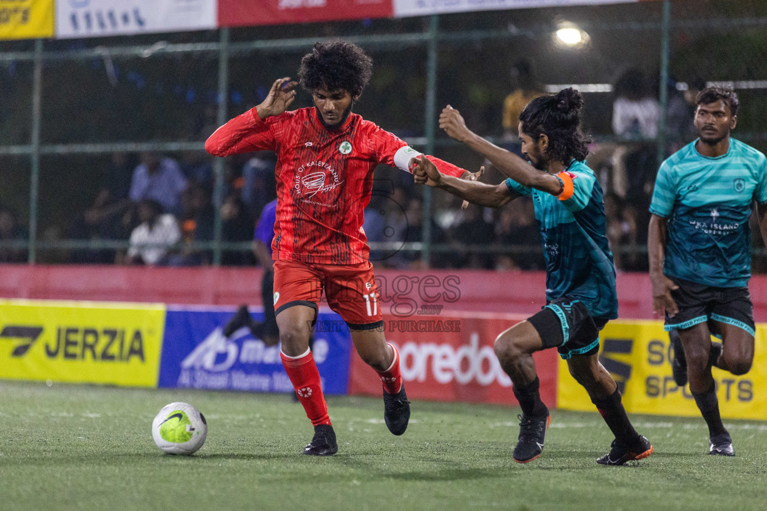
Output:
<path fill-rule="evenodd" d="M 373 59 L 357 44 L 347 41 L 317 43 L 311 53 L 301 59 L 298 80 L 310 93 L 318 87 L 344 89 L 356 98 L 370 81 L 371 67 Z"/>

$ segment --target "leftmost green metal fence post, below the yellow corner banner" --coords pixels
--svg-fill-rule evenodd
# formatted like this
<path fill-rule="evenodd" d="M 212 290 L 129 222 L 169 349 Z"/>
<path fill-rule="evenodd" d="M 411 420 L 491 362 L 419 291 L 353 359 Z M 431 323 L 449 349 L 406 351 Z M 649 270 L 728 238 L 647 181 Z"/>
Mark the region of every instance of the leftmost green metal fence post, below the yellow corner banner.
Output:
<path fill-rule="evenodd" d="M 35 40 L 35 69 L 32 71 L 32 133 L 29 172 L 29 251 L 28 262 L 37 260 L 38 196 L 40 188 L 40 98 L 42 95 L 43 40 Z"/>

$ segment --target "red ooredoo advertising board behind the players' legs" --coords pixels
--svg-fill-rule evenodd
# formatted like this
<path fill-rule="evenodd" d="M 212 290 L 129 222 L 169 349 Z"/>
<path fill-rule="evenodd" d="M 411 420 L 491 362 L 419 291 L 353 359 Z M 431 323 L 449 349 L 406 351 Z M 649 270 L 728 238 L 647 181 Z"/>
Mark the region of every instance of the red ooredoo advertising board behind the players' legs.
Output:
<path fill-rule="evenodd" d="M 388 342 L 400 350 L 400 370 L 409 398 L 517 405 L 512 380 L 493 351 L 499 333 L 522 317 L 484 313 L 445 313 L 398 318 L 384 315 Z M 533 355 L 541 380 L 541 398 L 556 406 L 557 353 Z M 380 396 L 381 382 L 373 369 L 352 354 L 349 393 Z"/>

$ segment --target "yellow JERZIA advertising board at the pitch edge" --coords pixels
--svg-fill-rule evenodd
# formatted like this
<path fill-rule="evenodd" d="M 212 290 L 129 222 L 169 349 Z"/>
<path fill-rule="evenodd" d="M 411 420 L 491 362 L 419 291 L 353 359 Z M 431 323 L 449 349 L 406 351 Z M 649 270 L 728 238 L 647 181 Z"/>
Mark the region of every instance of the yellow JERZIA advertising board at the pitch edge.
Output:
<path fill-rule="evenodd" d="M 0 300 L 0 378 L 156 387 L 164 329 L 163 304 Z"/>

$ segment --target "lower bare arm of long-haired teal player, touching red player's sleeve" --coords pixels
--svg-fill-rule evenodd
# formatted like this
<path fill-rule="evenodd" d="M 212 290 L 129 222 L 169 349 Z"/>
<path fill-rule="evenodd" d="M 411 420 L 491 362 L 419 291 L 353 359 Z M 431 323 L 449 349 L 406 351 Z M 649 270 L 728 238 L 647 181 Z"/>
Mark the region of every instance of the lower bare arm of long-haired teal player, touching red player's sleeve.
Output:
<path fill-rule="evenodd" d="M 479 169 L 477 178 L 485 172 L 485 167 Z M 500 208 L 508 204 L 513 198 L 518 197 L 505 183 L 500 185 L 486 185 L 479 181 L 460 179 L 452 175 L 444 175 L 439 172 L 433 162 L 428 158 L 420 157 L 413 169 L 413 179 L 416 183 L 442 188 L 465 201 L 489 208 Z"/>

